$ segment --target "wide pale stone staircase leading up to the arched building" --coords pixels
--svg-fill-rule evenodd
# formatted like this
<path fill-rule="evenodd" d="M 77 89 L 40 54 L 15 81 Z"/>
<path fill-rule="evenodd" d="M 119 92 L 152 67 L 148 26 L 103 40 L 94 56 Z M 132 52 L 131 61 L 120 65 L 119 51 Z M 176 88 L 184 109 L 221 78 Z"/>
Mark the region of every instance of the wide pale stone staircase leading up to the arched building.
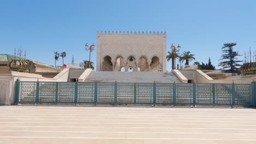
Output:
<path fill-rule="evenodd" d="M 142 82 L 142 83 L 181 83 L 181 80 L 172 72 L 150 71 L 91 71 L 85 81 L 98 82 Z"/>

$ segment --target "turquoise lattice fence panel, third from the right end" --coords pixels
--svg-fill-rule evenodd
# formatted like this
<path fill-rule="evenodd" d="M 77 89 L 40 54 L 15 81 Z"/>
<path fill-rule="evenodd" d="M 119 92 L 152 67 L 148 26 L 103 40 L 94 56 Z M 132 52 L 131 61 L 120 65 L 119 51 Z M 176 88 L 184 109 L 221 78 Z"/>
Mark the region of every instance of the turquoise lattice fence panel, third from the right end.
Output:
<path fill-rule="evenodd" d="M 195 83 L 196 105 L 213 105 L 213 84 Z"/>

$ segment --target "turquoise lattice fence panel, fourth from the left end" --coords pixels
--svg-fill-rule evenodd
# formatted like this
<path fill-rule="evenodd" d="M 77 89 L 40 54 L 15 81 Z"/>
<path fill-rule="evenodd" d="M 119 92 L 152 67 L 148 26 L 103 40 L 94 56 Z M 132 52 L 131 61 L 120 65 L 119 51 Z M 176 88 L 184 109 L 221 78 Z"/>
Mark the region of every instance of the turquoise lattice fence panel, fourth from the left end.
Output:
<path fill-rule="evenodd" d="M 77 103 L 94 103 L 94 82 L 78 82 L 78 97 Z"/>

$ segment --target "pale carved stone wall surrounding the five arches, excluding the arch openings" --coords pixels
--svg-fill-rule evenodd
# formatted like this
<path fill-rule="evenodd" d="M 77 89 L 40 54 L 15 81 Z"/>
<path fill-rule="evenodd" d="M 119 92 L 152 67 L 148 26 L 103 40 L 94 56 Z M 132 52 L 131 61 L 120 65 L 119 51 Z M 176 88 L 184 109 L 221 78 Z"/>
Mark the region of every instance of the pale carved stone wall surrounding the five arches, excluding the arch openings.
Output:
<path fill-rule="evenodd" d="M 101 70 L 101 63 L 105 56 L 110 56 L 112 63 L 118 56 L 127 62 L 129 56 L 139 58 L 145 56 L 150 64 L 152 57 L 157 56 L 162 71 L 166 71 L 166 32 L 97 32 L 97 67 Z"/>

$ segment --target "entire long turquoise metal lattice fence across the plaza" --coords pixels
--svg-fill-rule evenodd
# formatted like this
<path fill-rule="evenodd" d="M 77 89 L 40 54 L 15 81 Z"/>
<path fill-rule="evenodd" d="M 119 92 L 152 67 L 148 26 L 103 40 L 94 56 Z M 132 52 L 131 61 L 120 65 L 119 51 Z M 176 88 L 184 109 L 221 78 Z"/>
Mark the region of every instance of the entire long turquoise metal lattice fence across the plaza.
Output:
<path fill-rule="evenodd" d="M 16 104 L 256 106 L 255 83 L 16 81 Z"/>

